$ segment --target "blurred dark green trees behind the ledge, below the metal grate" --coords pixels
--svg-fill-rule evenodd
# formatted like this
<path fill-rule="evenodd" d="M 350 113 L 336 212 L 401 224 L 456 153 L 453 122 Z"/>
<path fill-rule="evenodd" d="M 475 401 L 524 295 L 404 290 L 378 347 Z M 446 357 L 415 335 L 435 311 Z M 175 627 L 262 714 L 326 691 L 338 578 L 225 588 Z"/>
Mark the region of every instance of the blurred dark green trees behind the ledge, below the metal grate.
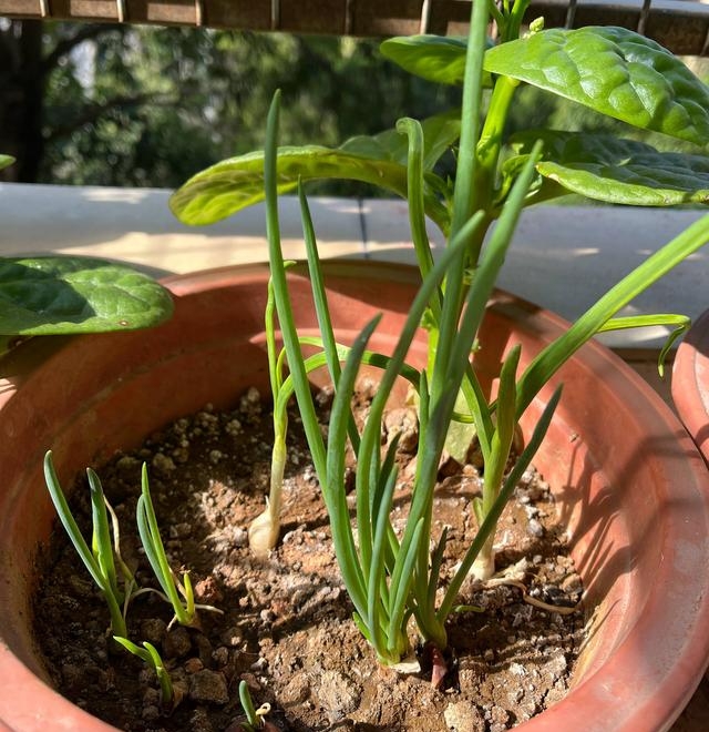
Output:
<path fill-rule="evenodd" d="M 458 89 L 410 77 L 378 47 L 376 39 L 0 19 L 0 152 L 18 159 L 0 180 L 176 187 L 260 148 L 277 88 L 282 144 L 337 145 L 459 103 Z M 526 88 L 511 126 L 531 124 L 614 125 Z M 627 136 L 639 135 L 627 129 Z M 677 149 L 659 141 L 668 144 Z M 376 194 L 331 182 L 317 192 Z"/>

